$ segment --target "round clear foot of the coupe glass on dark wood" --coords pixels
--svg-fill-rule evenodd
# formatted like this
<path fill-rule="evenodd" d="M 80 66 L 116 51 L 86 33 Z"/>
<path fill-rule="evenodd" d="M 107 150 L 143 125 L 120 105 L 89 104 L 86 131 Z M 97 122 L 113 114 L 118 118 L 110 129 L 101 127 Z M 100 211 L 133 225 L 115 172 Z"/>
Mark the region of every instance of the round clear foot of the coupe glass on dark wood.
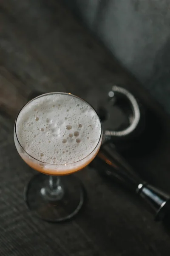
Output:
<path fill-rule="evenodd" d="M 44 221 L 66 221 L 83 205 L 84 188 L 77 177 L 60 176 L 59 182 L 57 190 L 51 192 L 49 176 L 40 173 L 32 177 L 24 190 L 28 208 Z"/>

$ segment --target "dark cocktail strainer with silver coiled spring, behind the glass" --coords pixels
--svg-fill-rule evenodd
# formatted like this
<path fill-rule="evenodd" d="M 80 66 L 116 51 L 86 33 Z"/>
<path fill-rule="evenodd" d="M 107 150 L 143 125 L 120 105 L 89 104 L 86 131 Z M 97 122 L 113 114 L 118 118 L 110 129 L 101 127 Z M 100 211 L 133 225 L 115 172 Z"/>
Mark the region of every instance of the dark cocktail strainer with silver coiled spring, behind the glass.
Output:
<path fill-rule="evenodd" d="M 97 112 L 105 136 L 113 141 L 119 153 L 126 158 L 141 157 L 153 151 L 163 134 L 159 116 L 127 89 L 117 85 L 113 85 L 104 98 L 106 100 L 99 103 Z M 116 116 L 116 109 L 121 110 L 121 122 L 119 116 Z"/>

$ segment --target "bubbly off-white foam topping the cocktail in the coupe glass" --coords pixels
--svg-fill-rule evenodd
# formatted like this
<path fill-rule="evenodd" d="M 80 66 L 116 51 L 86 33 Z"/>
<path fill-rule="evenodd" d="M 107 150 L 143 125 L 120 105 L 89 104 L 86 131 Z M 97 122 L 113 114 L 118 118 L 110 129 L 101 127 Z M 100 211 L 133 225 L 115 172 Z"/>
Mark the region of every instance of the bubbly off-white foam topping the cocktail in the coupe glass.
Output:
<path fill-rule="evenodd" d="M 67 93 L 44 94 L 20 111 L 17 139 L 35 159 L 54 165 L 78 162 L 96 148 L 101 122 L 94 109 Z"/>

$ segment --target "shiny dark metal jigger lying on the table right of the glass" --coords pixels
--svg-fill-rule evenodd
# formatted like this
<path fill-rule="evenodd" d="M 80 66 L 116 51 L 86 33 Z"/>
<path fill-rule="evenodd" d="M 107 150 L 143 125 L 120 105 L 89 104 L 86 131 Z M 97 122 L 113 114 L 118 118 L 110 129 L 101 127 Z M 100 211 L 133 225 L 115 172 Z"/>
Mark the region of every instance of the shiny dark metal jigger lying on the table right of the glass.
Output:
<path fill-rule="evenodd" d="M 170 195 L 142 180 L 132 167 L 121 157 L 110 141 L 104 143 L 90 167 L 105 172 L 110 178 L 119 181 L 132 192 L 136 192 L 155 212 L 155 220 L 162 220 L 170 212 Z"/>

